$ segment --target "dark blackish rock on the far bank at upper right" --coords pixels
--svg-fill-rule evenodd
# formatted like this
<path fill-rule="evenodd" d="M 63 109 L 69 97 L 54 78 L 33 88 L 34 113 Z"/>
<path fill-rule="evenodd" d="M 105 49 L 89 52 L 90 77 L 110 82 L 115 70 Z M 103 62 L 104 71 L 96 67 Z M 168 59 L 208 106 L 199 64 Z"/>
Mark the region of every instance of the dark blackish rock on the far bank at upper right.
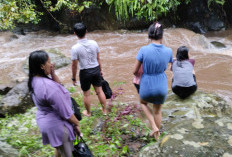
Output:
<path fill-rule="evenodd" d="M 212 1 L 211 1 L 212 2 Z M 178 6 L 179 25 L 184 25 L 196 33 L 219 31 L 226 28 L 225 12 L 217 3 L 208 0 L 191 0 Z M 230 17 L 229 15 L 227 15 Z"/>

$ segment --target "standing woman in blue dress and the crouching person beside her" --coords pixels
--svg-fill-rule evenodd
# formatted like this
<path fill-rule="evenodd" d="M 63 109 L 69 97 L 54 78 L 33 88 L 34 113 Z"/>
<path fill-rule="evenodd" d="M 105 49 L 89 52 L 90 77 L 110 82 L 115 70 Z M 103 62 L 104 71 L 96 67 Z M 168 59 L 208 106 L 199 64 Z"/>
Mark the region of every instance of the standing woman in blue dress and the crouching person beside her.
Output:
<path fill-rule="evenodd" d="M 139 93 L 142 110 L 152 127 L 150 136 L 158 139 L 162 121 L 161 108 L 168 93 L 165 70 L 171 63 L 172 91 L 184 99 L 197 89 L 195 60 L 189 59 L 189 51 L 185 46 L 178 48 L 176 59 L 173 60 L 172 49 L 162 44 L 163 27 L 158 22 L 149 27 L 148 37 L 151 43 L 140 48 L 136 57 L 133 83 Z M 148 103 L 153 104 L 153 110 Z"/>

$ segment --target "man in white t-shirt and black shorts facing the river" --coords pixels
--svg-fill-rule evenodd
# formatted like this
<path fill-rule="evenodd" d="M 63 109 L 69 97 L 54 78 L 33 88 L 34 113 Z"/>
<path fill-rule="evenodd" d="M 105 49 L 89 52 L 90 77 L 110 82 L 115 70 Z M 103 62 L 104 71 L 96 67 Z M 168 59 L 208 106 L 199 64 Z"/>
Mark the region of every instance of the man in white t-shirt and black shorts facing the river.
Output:
<path fill-rule="evenodd" d="M 83 23 L 74 25 L 74 34 L 78 37 L 78 42 L 72 47 L 72 81 L 76 84 L 77 63 L 79 65 L 79 79 L 81 89 L 84 93 L 84 105 L 86 110 L 83 114 L 91 116 L 90 112 L 90 86 L 94 87 L 98 99 L 102 105 L 102 112 L 106 114 L 106 97 L 102 90 L 102 70 L 100 63 L 99 47 L 96 41 L 85 38 L 87 29 Z"/>

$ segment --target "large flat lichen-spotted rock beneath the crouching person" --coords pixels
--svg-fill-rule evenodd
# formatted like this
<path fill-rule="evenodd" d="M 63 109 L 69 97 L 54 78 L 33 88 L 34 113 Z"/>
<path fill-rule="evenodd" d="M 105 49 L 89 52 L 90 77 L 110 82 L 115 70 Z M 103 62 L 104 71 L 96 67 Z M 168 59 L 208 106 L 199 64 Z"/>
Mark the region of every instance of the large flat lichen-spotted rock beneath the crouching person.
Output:
<path fill-rule="evenodd" d="M 163 105 L 168 133 L 143 148 L 140 157 L 216 157 L 232 155 L 231 107 L 220 97 L 197 92 L 186 100 L 169 94 Z"/>

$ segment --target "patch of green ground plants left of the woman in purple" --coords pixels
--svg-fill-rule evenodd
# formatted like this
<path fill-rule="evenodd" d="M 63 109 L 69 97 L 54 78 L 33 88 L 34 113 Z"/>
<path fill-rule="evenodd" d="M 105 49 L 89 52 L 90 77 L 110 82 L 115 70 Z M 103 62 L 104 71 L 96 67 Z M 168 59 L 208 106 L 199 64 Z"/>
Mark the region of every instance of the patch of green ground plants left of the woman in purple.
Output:
<path fill-rule="evenodd" d="M 43 146 L 42 137 L 35 121 L 36 108 L 26 114 L 0 119 L 0 137 L 18 149 L 19 156 L 51 156 L 54 149 Z"/>

